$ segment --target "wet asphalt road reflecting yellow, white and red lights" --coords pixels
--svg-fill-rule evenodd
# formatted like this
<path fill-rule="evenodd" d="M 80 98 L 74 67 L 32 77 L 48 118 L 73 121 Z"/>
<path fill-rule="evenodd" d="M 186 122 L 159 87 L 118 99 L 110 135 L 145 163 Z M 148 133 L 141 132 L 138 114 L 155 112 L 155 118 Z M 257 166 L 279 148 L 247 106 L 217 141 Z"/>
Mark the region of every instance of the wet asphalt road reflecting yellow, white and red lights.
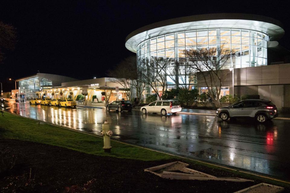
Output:
<path fill-rule="evenodd" d="M 9 103 L 6 110 L 93 134 L 100 134 L 101 124 L 108 120 L 114 139 L 290 180 L 290 121 L 221 122 L 205 115 L 143 115 L 18 103 Z"/>

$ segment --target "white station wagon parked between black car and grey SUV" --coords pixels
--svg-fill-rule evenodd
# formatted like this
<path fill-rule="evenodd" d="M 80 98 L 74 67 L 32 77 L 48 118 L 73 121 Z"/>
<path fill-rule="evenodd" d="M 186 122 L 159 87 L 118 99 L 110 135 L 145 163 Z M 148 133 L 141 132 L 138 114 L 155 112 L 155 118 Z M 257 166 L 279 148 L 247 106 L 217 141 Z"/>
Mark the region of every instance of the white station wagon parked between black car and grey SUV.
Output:
<path fill-rule="evenodd" d="M 149 105 L 142 106 L 140 111 L 143 114 L 147 112 L 156 112 L 166 115 L 167 113 L 176 114 L 181 111 L 181 106 L 178 100 L 158 100 Z"/>

